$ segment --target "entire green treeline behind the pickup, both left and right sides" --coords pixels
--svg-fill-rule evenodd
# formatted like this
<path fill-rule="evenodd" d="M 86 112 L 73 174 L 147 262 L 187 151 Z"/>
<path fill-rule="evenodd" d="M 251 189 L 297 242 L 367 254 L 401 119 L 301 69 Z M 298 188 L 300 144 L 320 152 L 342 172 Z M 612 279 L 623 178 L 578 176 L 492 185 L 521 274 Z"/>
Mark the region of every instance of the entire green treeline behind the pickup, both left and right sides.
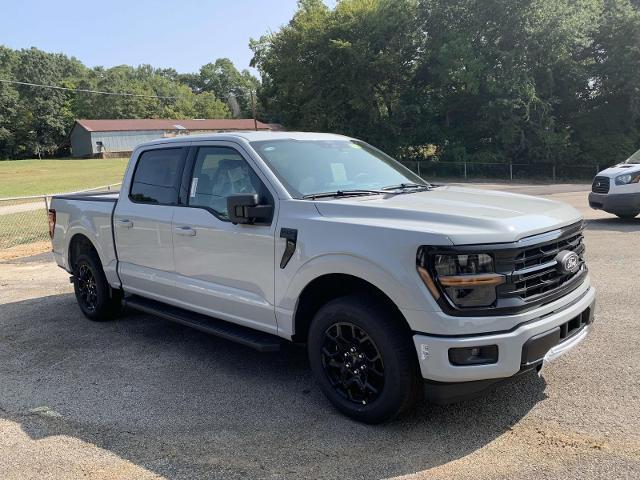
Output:
<path fill-rule="evenodd" d="M 300 0 L 251 40 L 261 82 L 226 58 L 195 73 L 87 68 L 0 47 L 0 158 L 53 153 L 74 118 L 252 114 L 357 136 L 404 158 L 611 164 L 640 147 L 639 0 Z"/>

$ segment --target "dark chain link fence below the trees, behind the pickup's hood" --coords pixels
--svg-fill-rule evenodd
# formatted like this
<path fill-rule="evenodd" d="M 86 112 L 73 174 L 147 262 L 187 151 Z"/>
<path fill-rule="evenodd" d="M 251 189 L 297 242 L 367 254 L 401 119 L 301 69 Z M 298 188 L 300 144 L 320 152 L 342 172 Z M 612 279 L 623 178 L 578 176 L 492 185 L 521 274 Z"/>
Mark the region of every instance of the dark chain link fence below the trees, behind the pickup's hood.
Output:
<path fill-rule="evenodd" d="M 555 165 L 552 163 L 471 163 L 403 161 L 402 164 L 425 180 L 495 180 L 516 182 L 561 181 L 591 183 L 604 166 Z"/>

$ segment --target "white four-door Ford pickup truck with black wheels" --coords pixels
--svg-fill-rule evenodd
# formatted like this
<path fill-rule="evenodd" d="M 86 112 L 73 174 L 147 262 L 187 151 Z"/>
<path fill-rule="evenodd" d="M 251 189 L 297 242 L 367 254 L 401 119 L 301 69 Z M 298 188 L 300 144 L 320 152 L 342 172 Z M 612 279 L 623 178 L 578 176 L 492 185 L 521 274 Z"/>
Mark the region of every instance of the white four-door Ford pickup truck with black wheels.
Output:
<path fill-rule="evenodd" d="M 89 319 L 126 305 L 305 344 L 329 400 L 369 423 L 540 369 L 593 321 L 575 209 L 430 185 L 340 135 L 146 143 L 119 195 L 54 197 L 50 230 Z"/>

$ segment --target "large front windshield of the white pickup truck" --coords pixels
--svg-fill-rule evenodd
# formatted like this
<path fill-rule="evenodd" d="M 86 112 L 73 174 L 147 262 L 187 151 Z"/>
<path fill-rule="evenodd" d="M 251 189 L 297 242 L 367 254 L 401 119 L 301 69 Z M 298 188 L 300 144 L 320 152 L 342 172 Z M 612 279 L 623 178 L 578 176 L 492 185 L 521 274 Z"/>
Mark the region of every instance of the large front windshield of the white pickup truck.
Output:
<path fill-rule="evenodd" d="M 357 140 L 278 139 L 251 142 L 293 198 L 429 184 L 379 150 Z"/>

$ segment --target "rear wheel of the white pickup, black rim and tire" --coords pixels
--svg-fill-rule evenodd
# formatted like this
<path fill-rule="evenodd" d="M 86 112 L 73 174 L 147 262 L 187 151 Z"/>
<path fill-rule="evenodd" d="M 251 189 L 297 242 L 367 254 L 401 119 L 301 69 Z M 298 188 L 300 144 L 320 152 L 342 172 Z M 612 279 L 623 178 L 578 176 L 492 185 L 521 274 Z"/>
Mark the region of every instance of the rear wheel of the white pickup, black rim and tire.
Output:
<path fill-rule="evenodd" d="M 122 311 L 122 292 L 109 286 L 94 251 L 78 255 L 73 268 L 73 289 L 80 310 L 89 320 L 112 320 Z"/>

